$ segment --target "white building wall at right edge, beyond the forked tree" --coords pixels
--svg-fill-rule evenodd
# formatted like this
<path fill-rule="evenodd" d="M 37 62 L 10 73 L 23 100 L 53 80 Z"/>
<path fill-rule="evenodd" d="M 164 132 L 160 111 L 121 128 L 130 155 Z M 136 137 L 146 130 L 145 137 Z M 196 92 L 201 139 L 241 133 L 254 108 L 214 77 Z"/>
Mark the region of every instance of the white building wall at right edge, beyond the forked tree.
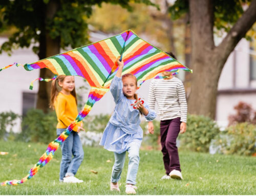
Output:
<path fill-rule="evenodd" d="M 250 84 L 249 55 L 249 42 L 242 39 L 228 57 L 222 70 L 218 84 L 220 92 L 216 108 L 216 120 L 221 126 L 228 124 L 228 116 L 236 112 L 234 106 L 240 101 L 251 104 L 252 108 L 256 110 L 256 83 L 251 82 Z M 243 90 L 249 89 L 255 89 L 255 92 L 242 93 Z M 226 92 L 223 92 L 225 90 Z M 237 91 L 237 93 L 232 91 Z"/>

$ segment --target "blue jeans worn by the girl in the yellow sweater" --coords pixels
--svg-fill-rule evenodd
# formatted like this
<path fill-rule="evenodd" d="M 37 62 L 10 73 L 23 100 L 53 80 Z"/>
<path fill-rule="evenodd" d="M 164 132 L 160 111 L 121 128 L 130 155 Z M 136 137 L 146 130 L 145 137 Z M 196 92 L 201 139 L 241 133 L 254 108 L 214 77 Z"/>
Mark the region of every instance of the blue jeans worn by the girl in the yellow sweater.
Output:
<path fill-rule="evenodd" d="M 66 128 L 57 128 L 59 136 Z M 83 149 L 80 137 L 77 132 L 70 133 L 69 137 L 60 145 L 62 158 L 60 162 L 59 181 L 66 176 L 75 176 L 83 160 Z M 72 159 L 72 155 L 74 156 Z"/>

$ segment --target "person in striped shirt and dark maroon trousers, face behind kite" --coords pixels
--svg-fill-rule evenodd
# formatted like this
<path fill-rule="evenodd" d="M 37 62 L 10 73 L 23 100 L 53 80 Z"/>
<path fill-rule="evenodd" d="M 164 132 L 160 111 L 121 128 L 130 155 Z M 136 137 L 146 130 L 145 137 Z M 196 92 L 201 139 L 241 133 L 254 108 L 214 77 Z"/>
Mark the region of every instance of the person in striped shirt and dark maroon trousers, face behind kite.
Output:
<path fill-rule="evenodd" d="M 175 58 L 172 53 L 168 55 Z M 179 133 L 186 132 L 187 102 L 183 83 L 171 72 L 163 72 L 163 79 L 154 79 L 150 84 L 148 104 L 152 110 L 155 103 L 160 118 L 160 137 L 166 175 L 162 179 L 182 180 L 176 140 Z M 148 122 L 148 132 L 154 134 L 153 122 Z"/>

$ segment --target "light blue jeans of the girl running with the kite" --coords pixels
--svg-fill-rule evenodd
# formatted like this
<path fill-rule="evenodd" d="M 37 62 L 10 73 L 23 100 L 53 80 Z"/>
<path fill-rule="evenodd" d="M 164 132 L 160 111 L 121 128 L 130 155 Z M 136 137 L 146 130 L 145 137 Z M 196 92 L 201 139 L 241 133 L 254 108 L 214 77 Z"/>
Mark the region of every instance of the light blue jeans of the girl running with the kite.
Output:
<path fill-rule="evenodd" d="M 136 142 L 132 142 L 127 148 L 129 164 L 127 170 L 126 184 L 136 184 L 136 176 L 139 168 L 140 156 L 139 156 L 140 144 Z M 111 182 L 118 182 L 121 179 L 121 173 L 123 169 L 123 165 L 125 162 L 125 154 L 124 151 L 121 154 L 114 153 L 115 155 L 115 163 L 112 168 L 112 177 Z"/>

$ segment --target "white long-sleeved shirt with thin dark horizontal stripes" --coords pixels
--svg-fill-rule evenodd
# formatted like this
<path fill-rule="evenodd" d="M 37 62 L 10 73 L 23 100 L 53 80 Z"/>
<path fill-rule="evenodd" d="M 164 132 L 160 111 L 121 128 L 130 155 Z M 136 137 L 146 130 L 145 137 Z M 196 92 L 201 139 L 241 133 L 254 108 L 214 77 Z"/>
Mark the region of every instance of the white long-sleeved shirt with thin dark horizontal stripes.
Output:
<path fill-rule="evenodd" d="M 187 121 L 186 95 L 180 79 L 153 79 L 148 95 L 148 104 L 152 110 L 155 109 L 156 102 L 160 120 L 181 117 L 181 122 Z"/>

